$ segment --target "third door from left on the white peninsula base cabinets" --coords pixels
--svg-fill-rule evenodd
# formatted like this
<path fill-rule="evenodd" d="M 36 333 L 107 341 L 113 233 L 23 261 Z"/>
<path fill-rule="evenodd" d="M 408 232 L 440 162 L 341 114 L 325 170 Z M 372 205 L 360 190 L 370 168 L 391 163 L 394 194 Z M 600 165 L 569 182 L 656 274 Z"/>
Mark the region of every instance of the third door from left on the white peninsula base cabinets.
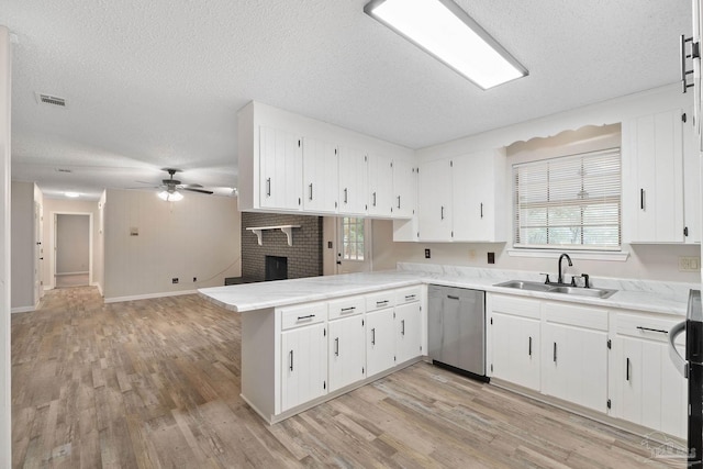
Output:
<path fill-rule="evenodd" d="M 366 314 L 366 376 L 371 377 L 395 365 L 393 309 Z"/>

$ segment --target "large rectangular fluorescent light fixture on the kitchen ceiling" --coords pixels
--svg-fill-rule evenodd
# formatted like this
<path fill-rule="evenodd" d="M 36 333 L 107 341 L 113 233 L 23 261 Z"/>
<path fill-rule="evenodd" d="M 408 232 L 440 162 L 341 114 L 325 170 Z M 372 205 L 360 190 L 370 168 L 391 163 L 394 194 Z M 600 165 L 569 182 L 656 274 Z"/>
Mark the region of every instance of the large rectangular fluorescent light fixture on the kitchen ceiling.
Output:
<path fill-rule="evenodd" d="M 372 0 L 364 11 L 484 90 L 528 74 L 451 0 Z"/>

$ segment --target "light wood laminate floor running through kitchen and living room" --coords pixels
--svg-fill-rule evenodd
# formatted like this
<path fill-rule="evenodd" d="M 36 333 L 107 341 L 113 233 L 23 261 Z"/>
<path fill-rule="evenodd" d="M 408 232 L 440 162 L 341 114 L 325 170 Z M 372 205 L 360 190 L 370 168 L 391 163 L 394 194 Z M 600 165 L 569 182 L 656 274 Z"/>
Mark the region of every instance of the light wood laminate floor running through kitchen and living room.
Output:
<path fill-rule="evenodd" d="M 239 334 L 237 314 L 197 295 L 49 291 L 12 316 L 13 466 L 684 467 L 640 436 L 424 362 L 268 426 L 239 398 Z"/>

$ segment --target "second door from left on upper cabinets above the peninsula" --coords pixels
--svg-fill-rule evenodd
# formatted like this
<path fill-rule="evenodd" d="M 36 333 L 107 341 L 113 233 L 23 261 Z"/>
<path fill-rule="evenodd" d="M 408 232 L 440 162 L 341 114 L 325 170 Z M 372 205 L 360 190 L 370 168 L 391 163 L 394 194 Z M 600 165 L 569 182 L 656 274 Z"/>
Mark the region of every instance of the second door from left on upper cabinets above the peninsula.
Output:
<path fill-rule="evenodd" d="M 335 213 L 337 210 L 337 148 L 327 142 L 303 138 L 303 209 Z"/>

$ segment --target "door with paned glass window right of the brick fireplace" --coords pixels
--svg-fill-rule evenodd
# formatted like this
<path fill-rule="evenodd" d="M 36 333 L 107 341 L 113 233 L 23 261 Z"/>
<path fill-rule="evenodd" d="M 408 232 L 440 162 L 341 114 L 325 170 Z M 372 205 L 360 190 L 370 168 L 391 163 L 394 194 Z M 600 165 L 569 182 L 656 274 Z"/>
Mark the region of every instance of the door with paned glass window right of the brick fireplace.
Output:
<path fill-rule="evenodd" d="M 370 272 L 371 223 L 367 219 L 344 216 L 337 219 L 337 273 Z"/>

